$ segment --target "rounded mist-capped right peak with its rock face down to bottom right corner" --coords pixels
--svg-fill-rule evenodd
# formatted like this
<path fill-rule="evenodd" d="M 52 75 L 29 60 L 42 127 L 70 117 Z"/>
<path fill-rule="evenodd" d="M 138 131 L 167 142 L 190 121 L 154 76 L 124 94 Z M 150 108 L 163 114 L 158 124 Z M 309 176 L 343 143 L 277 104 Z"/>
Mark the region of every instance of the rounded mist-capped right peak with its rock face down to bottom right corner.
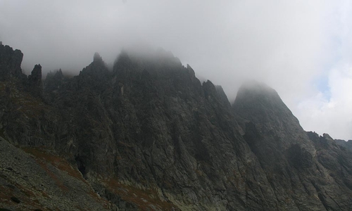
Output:
<path fill-rule="evenodd" d="M 349 209 L 350 153 L 341 152 L 326 134 L 304 132 L 276 91 L 263 84 L 241 87 L 233 109 L 282 206 L 279 210 Z"/>

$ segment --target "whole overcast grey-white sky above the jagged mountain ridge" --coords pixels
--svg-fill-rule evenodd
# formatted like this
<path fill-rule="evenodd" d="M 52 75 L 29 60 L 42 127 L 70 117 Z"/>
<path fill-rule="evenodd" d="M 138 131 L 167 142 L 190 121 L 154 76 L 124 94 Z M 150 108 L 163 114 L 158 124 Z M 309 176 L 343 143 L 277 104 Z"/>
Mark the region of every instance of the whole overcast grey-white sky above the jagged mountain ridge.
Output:
<path fill-rule="evenodd" d="M 0 41 L 22 68 L 78 72 L 99 52 L 162 47 L 234 101 L 244 79 L 277 90 L 303 129 L 352 139 L 352 4 L 334 1 L 0 0 Z"/>

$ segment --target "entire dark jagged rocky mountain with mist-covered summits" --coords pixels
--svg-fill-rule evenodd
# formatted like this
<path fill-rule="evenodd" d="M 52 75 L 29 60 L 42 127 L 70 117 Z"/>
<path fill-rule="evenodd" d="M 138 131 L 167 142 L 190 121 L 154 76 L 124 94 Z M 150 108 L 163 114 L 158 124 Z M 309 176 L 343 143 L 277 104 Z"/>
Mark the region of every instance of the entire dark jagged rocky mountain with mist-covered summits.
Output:
<path fill-rule="evenodd" d="M 42 82 L 0 45 L 0 208 L 350 210 L 352 154 L 305 132 L 277 92 L 233 105 L 172 53 L 98 53 Z M 44 85 L 42 85 L 44 84 Z"/>

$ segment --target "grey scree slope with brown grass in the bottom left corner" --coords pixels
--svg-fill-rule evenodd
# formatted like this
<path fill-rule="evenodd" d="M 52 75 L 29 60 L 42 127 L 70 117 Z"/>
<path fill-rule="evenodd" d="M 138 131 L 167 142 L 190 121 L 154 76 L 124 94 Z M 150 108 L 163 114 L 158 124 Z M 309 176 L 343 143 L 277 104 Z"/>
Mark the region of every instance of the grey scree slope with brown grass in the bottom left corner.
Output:
<path fill-rule="evenodd" d="M 0 138 L 0 207 L 11 210 L 117 210 L 82 174 L 46 148 Z"/>

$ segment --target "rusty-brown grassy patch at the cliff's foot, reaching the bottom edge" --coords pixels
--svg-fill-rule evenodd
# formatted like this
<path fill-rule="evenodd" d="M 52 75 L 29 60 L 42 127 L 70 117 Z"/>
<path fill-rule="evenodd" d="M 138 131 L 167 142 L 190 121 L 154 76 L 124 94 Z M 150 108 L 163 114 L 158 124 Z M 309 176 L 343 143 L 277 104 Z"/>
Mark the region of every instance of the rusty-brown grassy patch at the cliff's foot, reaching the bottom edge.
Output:
<path fill-rule="evenodd" d="M 179 210 L 172 203 L 162 201 L 156 190 L 142 190 L 134 186 L 120 184 L 118 179 L 110 179 L 106 181 L 106 184 L 109 190 L 120 196 L 122 200 L 137 205 L 139 210 L 150 210 L 151 205 L 161 210 Z"/>

